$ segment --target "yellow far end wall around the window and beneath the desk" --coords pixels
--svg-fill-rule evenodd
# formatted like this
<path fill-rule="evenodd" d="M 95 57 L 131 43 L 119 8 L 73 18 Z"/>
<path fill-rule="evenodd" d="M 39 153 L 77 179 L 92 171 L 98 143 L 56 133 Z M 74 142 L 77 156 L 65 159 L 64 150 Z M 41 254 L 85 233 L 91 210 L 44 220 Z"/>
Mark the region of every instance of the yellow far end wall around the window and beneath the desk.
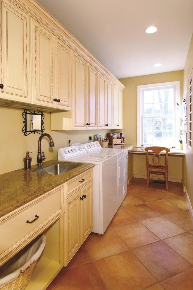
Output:
<path fill-rule="evenodd" d="M 180 97 L 183 98 L 183 71 L 171 71 L 162 74 L 150 74 L 131 78 L 119 79 L 125 86 L 123 90 L 123 132 L 125 132 L 126 143 L 137 145 L 137 86 L 151 83 L 164 83 L 180 81 Z M 170 180 L 184 179 L 182 157 L 169 157 Z M 176 167 L 176 163 L 180 165 Z M 145 156 L 133 155 L 133 174 L 146 178 Z"/>

